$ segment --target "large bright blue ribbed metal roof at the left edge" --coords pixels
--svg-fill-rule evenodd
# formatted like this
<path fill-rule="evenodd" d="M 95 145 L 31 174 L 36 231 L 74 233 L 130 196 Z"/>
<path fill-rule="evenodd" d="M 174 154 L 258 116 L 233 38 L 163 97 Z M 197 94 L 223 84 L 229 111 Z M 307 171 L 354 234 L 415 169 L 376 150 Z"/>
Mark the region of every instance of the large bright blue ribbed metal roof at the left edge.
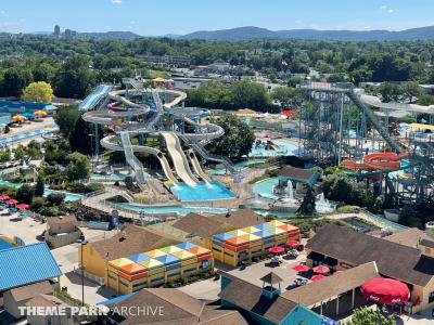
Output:
<path fill-rule="evenodd" d="M 46 243 L 0 251 L 0 291 L 62 275 Z"/>

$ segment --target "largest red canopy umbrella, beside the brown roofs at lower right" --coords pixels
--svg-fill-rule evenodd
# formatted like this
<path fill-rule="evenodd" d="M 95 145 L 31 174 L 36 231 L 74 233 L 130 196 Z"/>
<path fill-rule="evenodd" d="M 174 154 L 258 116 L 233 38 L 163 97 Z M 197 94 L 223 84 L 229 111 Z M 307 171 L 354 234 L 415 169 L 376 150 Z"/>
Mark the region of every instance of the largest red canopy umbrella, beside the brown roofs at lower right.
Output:
<path fill-rule="evenodd" d="M 360 289 L 367 299 L 380 303 L 403 303 L 410 298 L 408 286 L 393 278 L 374 277 L 366 281 Z"/>

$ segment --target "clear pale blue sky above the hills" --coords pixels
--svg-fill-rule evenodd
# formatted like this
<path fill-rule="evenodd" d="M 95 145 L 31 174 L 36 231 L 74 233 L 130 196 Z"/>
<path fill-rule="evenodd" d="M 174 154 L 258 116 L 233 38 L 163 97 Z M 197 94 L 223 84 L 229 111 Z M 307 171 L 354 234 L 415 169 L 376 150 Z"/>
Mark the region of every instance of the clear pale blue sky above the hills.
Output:
<path fill-rule="evenodd" d="M 0 0 L 0 31 L 401 30 L 434 25 L 433 13 L 434 0 Z"/>

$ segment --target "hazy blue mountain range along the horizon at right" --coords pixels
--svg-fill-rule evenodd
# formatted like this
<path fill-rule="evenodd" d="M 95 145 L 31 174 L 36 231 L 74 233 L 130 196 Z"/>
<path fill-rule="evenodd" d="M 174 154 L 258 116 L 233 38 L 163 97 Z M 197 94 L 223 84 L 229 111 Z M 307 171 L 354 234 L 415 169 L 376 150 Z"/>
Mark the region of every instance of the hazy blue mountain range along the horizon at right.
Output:
<path fill-rule="evenodd" d="M 318 29 L 290 29 L 269 30 L 254 26 L 238 27 L 221 30 L 200 30 L 191 34 L 167 37 L 181 39 L 203 39 L 215 41 L 237 41 L 250 39 L 316 39 L 342 41 L 374 41 L 374 40 L 418 40 L 434 39 L 434 26 L 411 28 L 400 31 L 390 30 L 318 30 Z"/>

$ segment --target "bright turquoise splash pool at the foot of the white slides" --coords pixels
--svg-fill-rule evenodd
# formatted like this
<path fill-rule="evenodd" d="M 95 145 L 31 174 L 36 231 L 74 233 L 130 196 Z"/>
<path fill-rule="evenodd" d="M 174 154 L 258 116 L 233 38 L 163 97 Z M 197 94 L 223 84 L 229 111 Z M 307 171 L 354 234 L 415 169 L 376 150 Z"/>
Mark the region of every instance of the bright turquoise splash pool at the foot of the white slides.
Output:
<path fill-rule="evenodd" d="M 217 181 L 209 184 L 200 182 L 194 186 L 179 183 L 171 186 L 170 190 L 180 202 L 217 200 L 235 197 L 235 194 Z"/>

